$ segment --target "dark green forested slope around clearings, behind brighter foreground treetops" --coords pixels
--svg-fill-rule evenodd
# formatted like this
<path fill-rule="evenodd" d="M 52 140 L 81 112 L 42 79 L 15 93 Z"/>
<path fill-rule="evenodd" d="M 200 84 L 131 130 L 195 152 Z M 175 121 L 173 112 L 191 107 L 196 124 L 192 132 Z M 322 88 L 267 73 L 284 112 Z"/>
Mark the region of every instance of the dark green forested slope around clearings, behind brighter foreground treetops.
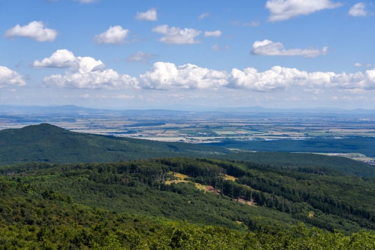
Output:
<path fill-rule="evenodd" d="M 344 233 L 375 228 L 374 179 L 335 175 L 321 168 L 310 169 L 312 174 L 299 170 L 203 158 L 76 165 L 34 163 L 1 169 L 0 187 L 117 213 L 237 230 L 254 228 L 256 224 L 290 227 L 297 222 Z M 202 192 L 194 183 L 166 185 L 171 172 L 186 174 L 195 183 L 210 185 L 222 195 Z M 224 174 L 235 176 L 236 181 L 226 180 Z M 313 217 L 308 216 L 310 211 L 314 211 Z"/>

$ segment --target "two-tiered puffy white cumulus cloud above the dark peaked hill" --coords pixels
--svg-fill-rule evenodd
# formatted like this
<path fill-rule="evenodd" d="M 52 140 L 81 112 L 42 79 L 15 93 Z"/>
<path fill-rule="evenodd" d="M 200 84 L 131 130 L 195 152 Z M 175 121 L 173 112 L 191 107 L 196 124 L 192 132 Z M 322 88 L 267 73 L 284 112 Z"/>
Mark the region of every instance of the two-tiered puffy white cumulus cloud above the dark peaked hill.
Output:
<path fill-rule="evenodd" d="M 55 74 L 44 77 L 45 86 L 58 88 L 122 89 L 138 88 L 138 80 L 126 74 L 118 74 L 106 69 L 101 60 L 91 57 L 74 56 L 67 49 L 60 49 L 49 58 L 35 60 L 32 67 L 57 67 L 67 69 L 65 75 Z"/>

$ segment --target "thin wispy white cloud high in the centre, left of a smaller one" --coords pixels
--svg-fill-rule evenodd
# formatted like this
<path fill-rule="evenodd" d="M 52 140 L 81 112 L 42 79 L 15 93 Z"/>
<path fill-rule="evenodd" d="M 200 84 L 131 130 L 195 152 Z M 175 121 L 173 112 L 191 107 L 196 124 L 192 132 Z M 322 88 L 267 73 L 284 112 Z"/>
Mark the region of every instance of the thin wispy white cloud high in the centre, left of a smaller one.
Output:
<path fill-rule="evenodd" d="M 163 34 L 163 38 L 160 38 L 160 42 L 165 42 L 167 44 L 196 44 L 201 43 L 199 40 L 195 40 L 202 32 L 194 28 L 178 28 L 171 27 L 167 25 L 160 25 L 152 29 L 153 32 Z"/>

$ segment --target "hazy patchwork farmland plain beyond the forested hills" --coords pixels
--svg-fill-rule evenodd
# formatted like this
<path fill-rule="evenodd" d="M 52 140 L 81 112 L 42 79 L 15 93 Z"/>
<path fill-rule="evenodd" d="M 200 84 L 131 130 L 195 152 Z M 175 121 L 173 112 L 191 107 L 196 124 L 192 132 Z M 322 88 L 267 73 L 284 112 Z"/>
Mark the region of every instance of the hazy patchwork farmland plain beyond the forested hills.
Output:
<path fill-rule="evenodd" d="M 35 110 L 0 109 L 0 130 L 49 123 L 79 133 L 211 144 L 238 151 L 344 157 L 359 153 L 361 156 L 349 158 L 375 164 L 375 113 L 92 110 L 76 106 Z"/>

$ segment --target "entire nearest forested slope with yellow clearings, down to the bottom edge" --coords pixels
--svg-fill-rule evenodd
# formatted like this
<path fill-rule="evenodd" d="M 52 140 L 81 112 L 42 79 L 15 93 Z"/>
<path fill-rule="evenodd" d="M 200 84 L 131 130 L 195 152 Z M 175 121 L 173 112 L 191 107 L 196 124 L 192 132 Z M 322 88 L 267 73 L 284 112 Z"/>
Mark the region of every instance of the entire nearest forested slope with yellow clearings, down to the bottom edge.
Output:
<path fill-rule="evenodd" d="M 22 163 L 0 168 L 0 190 L 0 249 L 375 247 L 374 178 L 326 167 Z"/>

